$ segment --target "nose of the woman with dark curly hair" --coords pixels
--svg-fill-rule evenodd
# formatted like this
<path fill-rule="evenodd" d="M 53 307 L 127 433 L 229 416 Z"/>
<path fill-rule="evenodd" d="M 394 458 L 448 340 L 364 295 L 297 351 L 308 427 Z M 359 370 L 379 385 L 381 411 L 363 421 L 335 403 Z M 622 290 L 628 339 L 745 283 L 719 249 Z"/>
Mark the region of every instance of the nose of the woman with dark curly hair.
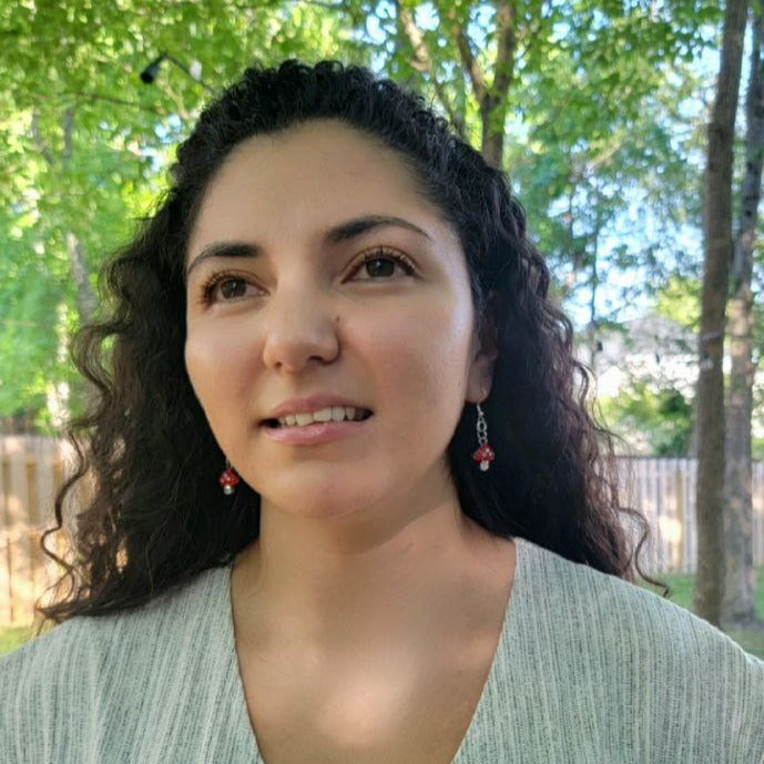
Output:
<path fill-rule="evenodd" d="M 298 373 L 312 363 L 328 364 L 339 353 L 338 316 L 325 295 L 278 289 L 266 308 L 263 363 L 275 371 Z M 337 318 L 335 318 L 337 316 Z"/>

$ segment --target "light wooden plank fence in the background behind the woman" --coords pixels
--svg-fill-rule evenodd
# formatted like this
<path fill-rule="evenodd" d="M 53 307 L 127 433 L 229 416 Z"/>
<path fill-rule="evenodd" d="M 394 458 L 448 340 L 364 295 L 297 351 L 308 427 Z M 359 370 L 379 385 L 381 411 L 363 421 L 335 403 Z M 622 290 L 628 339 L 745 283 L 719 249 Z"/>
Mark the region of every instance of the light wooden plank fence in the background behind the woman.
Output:
<path fill-rule="evenodd" d="M 60 575 L 40 549 L 40 534 L 54 524 L 53 496 L 71 464 L 65 444 L 49 438 L 0 436 L 0 624 L 28 624 L 33 602 Z M 650 572 L 694 572 L 694 459 L 621 459 L 624 498 L 639 508 L 653 530 L 645 550 Z M 764 564 L 764 464 L 753 476 L 754 563 Z M 71 518 L 75 495 L 67 508 Z M 63 553 L 61 533 L 48 547 Z"/>

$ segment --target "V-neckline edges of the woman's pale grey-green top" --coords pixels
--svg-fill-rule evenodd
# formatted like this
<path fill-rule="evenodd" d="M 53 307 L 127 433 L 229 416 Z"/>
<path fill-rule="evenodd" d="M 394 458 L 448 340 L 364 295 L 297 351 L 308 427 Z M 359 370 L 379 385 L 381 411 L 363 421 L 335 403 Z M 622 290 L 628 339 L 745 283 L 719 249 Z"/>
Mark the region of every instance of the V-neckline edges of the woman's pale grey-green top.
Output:
<path fill-rule="evenodd" d="M 529 542 L 519 537 L 512 537 L 515 542 L 515 575 L 512 579 L 512 585 L 509 591 L 509 597 L 505 607 L 505 614 L 501 625 L 501 633 L 499 634 L 499 640 L 493 653 L 493 659 L 491 661 L 491 668 L 488 671 L 488 676 L 483 683 L 480 697 L 475 706 L 475 712 L 472 713 L 472 719 L 467 727 L 465 736 L 461 738 L 461 743 L 457 748 L 454 758 L 450 764 L 462 764 L 462 760 L 469 755 L 470 747 L 472 747 L 473 741 L 477 738 L 479 730 L 485 729 L 482 723 L 486 714 L 489 713 L 489 707 L 495 704 L 491 702 L 491 697 L 497 691 L 497 685 L 499 682 L 499 676 L 502 671 L 502 665 L 506 663 L 509 651 L 511 650 L 511 644 L 513 642 L 511 632 L 516 630 L 516 624 L 520 620 L 518 618 L 518 604 L 521 601 L 519 593 L 522 591 L 522 585 L 524 583 L 524 566 L 526 566 L 526 553 L 529 551 L 526 547 Z M 251 742 L 251 755 L 253 757 L 253 764 L 266 764 L 263 758 L 259 746 L 257 744 L 257 735 L 249 721 L 249 712 L 246 704 L 246 695 L 244 692 L 244 681 L 242 679 L 242 672 L 238 663 L 238 652 L 236 650 L 236 635 L 234 631 L 234 614 L 233 614 L 233 598 L 231 595 L 231 577 L 233 573 L 233 563 L 227 567 L 227 575 L 225 577 L 226 583 L 226 598 L 224 604 L 226 608 L 227 619 L 225 623 L 225 640 L 223 644 L 225 646 L 228 656 L 232 656 L 231 666 L 232 674 L 231 678 L 231 691 L 235 694 L 234 699 L 234 713 L 235 719 L 232 720 L 233 727 L 238 730 L 247 730 L 248 738 Z M 518 589 L 520 587 L 520 589 Z"/>

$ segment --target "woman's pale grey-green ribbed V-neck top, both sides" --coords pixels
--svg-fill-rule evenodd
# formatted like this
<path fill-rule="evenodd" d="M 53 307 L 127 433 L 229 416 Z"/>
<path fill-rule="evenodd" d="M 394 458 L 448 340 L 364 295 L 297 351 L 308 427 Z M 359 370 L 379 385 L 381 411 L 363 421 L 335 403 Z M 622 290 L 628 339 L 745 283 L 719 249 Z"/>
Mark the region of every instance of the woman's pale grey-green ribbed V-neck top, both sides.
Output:
<path fill-rule="evenodd" d="M 764 764 L 764 662 L 655 594 L 516 541 L 503 632 L 454 764 Z M 231 568 L 210 570 L 4 656 L 0 762 L 263 764 L 230 583 Z"/>

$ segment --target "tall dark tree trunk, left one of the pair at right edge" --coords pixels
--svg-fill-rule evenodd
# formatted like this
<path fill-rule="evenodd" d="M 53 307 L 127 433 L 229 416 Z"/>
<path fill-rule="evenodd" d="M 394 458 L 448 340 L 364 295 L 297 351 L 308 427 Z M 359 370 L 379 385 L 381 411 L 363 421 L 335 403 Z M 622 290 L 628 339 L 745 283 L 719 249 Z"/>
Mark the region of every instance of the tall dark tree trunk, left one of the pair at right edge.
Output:
<path fill-rule="evenodd" d="M 724 580 L 724 312 L 732 259 L 732 161 L 747 0 L 727 0 L 703 196 L 703 300 L 697 379 L 695 612 L 721 625 Z"/>

